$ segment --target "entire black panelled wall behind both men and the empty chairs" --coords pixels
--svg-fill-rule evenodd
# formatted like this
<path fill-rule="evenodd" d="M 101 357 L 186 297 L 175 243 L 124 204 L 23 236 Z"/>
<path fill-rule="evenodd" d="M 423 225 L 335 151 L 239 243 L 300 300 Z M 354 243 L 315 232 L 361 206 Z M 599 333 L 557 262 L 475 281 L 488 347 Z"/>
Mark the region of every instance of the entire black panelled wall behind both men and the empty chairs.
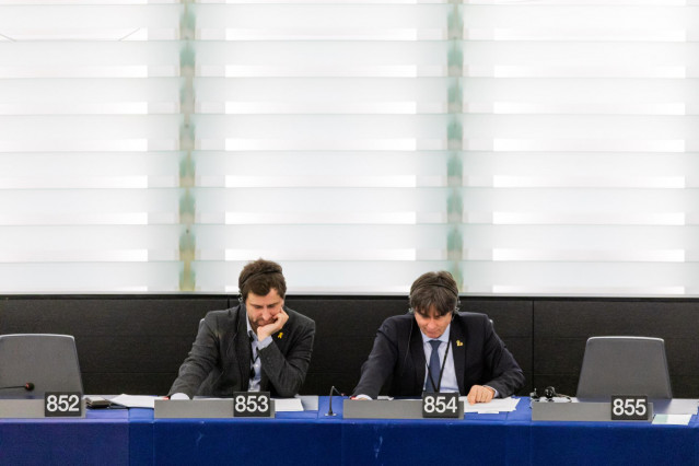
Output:
<path fill-rule="evenodd" d="M 208 311 L 237 304 L 226 295 L 7 296 L 0 334 L 75 337 L 88 393 L 164 394 Z M 407 311 L 405 296 L 288 296 L 316 322 L 314 354 L 303 394 L 331 385 L 349 393 L 359 380 L 376 329 Z M 677 397 L 699 398 L 699 300 L 476 298 L 462 311 L 488 314 L 527 377 L 520 394 L 552 385 L 574 395 L 591 336 L 665 339 Z"/>

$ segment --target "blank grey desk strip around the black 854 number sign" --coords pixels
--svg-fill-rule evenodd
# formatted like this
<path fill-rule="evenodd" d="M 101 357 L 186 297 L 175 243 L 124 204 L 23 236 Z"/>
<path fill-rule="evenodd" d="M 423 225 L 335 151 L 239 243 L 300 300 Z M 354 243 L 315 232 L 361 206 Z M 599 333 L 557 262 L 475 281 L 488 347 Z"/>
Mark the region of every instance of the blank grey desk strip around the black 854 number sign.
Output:
<path fill-rule="evenodd" d="M 346 399 L 342 404 L 345 419 L 426 419 L 421 399 Z M 464 404 L 458 403 L 458 415 L 464 419 Z"/>

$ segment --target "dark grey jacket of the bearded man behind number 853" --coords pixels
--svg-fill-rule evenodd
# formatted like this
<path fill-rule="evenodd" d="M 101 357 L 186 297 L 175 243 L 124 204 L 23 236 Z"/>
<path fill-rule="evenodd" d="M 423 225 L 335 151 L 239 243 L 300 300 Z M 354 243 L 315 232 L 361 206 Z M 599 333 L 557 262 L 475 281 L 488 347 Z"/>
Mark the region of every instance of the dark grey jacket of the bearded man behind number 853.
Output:
<path fill-rule="evenodd" d="M 292 397 L 301 389 L 315 336 L 312 319 L 288 307 L 284 312 L 289 321 L 271 336 L 272 342 L 259 350 L 260 389 L 277 397 Z M 170 395 L 226 397 L 246 392 L 252 353 L 246 319 L 245 305 L 208 313 Z"/>

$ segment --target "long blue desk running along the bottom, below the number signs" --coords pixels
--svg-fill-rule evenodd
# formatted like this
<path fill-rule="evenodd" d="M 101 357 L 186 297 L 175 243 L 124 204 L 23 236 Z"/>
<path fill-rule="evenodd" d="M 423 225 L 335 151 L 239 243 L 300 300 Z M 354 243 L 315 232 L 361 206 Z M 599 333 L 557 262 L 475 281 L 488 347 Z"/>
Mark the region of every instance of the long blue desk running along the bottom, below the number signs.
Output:
<path fill-rule="evenodd" d="M 513 412 L 464 420 L 342 419 L 342 399 L 276 419 L 153 419 L 149 409 L 85 419 L 0 420 L 0 464 L 106 465 L 699 465 L 699 422 L 532 422 Z"/>

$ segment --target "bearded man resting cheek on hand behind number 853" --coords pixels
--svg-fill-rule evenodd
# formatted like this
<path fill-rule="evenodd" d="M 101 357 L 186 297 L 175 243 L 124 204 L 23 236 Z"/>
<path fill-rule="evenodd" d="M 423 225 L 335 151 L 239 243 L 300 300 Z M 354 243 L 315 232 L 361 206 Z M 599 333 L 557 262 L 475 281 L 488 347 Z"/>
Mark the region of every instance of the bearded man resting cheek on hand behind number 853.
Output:
<path fill-rule="evenodd" d="M 212 311 L 199 324 L 170 388 L 172 399 L 247 391 L 277 397 L 299 393 L 311 362 L 315 323 L 284 307 L 287 282 L 277 263 L 258 259 L 246 265 L 238 289 L 237 306 Z"/>

